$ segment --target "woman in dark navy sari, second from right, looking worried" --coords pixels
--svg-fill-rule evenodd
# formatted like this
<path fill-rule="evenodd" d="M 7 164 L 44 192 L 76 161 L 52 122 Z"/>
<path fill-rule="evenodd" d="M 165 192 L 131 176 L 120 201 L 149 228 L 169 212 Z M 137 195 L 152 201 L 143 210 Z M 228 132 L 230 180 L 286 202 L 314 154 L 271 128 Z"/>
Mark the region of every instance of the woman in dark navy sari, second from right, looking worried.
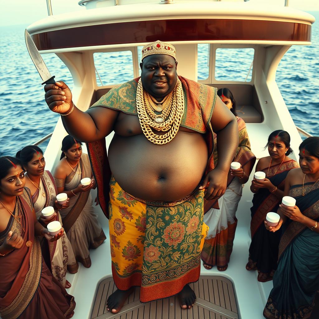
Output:
<path fill-rule="evenodd" d="M 264 181 L 253 179 L 250 190 L 254 193 L 251 211 L 251 244 L 247 270 L 258 270 L 257 280 L 272 280 L 277 269 L 278 245 L 280 232 L 270 233 L 263 226 L 263 221 L 270 211 L 277 211 L 284 194 L 285 178 L 288 172 L 298 163 L 288 157 L 293 151 L 290 148 L 290 135 L 283 130 L 276 130 L 268 137 L 270 156 L 259 159 L 256 172 L 265 172 Z"/>

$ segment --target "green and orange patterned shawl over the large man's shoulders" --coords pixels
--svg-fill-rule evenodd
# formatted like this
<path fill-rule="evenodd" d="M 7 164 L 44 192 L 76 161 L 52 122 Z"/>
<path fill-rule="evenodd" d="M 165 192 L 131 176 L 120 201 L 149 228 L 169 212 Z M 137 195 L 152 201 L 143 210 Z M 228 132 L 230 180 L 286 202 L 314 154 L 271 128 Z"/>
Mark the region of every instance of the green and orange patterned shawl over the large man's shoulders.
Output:
<path fill-rule="evenodd" d="M 182 127 L 205 134 L 209 159 L 206 173 L 214 168 L 214 141 L 211 127 L 211 115 L 214 110 L 217 89 L 211 86 L 197 83 L 179 76 L 184 92 L 184 114 Z M 136 91 L 139 78 L 131 80 L 112 88 L 94 103 L 91 108 L 105 107 L 121 111 L 126 114 L 136 115 Z M 97 182 L 98 200 L 102 211 L 108 218 L 109 182 L 111 170 L 105 145 L 105 138 L 87 143 L 92 171 Z"/>

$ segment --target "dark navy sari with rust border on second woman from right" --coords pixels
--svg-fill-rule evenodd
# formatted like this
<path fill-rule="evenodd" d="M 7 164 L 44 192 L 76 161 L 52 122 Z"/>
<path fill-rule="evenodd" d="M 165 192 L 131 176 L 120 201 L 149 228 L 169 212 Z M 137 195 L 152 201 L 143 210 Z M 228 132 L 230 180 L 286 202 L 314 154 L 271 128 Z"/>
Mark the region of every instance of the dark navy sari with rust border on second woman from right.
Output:
<path fill-rule="evenodd" d="M 266 177 L 274 186 L 283 191 L 288 172 L 297 167 L 299 167 L 298 163 L 291 159 L 281 165 L 271 166 L 269 176 Z M 267 174 L 268 167 L 262 171 Z M 253 206 L 250 208 L 251 243 L 249 247 L 249 263 L 256 267 L 259 272 L 265 274 L 265 276 L 266 274 L 270 274 L 270 277 L 277 269 L 281 230 L 275 233 L 269 232 L 264 226 L 263 221 L 268 212 L 277 212 L 280 202 L 278 197 L 268 189 L 262 188 L 254 194 L 252 200 Z"/>

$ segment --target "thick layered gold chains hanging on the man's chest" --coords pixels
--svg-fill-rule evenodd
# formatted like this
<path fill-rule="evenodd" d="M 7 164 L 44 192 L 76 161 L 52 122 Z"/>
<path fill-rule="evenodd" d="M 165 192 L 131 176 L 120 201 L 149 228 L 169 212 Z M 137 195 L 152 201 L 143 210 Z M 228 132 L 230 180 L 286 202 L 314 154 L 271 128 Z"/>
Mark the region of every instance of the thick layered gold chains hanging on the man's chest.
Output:
<path fill-rule="evenodd" d="M 158 116 L 159 120 L 152 120 L 151 115 L 147 112 L 147 106 L 148 103 L 143 94 L 142 80 L 139 79 L 136 93 L 136 108 L 143 134 L 153 144 L 163 145 L 170 142 L 177 134 L 184 113 L 184 94 L 180 79 L 177 78 L 172 94 L 171 111 L 166 120 L 160 116 Z M 158 135 L 152 131 L 152 128 L 167 133 Z"/>

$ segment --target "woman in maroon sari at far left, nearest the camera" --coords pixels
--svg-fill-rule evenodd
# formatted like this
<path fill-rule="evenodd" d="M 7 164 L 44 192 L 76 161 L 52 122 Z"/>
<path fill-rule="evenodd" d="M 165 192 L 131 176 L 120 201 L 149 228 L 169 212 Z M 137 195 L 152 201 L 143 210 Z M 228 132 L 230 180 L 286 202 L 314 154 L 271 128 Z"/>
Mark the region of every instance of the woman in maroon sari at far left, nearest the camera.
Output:
<path fill-rule="evenodd" d="M 57 241 L 36 219 L 19 159 L 0 158 L 0 316 L 2 319 L 64 319 L 75 302 L 52 276 L 37 236 Z"/>

